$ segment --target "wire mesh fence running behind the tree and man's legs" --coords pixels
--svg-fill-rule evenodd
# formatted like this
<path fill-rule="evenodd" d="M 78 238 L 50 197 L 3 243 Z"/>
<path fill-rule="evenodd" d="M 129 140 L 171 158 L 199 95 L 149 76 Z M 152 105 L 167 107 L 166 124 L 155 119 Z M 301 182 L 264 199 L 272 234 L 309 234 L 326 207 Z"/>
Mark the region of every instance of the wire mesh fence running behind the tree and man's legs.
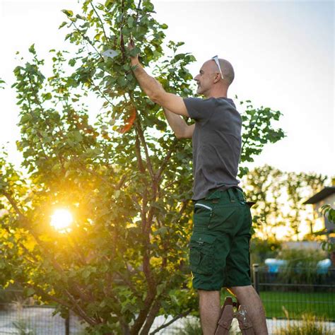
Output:
<path fill-rule="evenodd" d="M 267 266 L 253 266 L 254 287 L 261 296 L 266 310 L 269 334 L 276 334 L 288 323 L 302 322 L 305 315 L 316 317 L 324 329 L 335 334 L 335 269 L 322 274 L 315 269 L 278 269 L 269 271 Z M 54 315 L 55 307 L 36 305 L 33 300 L 22 298 L 20 290 L 0 293 L 0 334 L 27 335 L 83 335 L 85 325 L 76 315 L 64 319 Z M 157 317 L 151 331 L 172 319 Z M 178 319 L 156 334 L 181 334 L 187 322 L 199 323 L 199 319 Z M 235 331 L 238 334 L 237 324 Z M 196 333 L 193 333 L 196 334 Z M 201 334 L 201 332 L 199 332 Z"/>

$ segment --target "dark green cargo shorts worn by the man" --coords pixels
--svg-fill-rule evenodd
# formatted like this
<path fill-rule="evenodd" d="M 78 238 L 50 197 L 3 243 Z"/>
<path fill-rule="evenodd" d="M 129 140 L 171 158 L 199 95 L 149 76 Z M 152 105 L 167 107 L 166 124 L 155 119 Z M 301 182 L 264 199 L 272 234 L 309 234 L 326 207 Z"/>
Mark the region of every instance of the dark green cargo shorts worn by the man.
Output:
<path fill-rule="evenodd" d="M 189 243 L 192 283 L 199 290 L 248 286 L 252 216 L 237 188 L 210 192 L 194 203 Z"/>

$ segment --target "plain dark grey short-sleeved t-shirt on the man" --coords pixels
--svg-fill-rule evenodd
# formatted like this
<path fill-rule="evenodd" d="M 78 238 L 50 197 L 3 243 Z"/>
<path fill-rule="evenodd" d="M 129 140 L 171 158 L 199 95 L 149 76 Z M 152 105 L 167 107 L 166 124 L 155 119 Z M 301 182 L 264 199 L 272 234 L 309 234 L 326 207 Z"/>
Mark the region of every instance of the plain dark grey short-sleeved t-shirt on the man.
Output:
<path fill-rule="evenodd" d="M 193 145 L 193 200 L 211 189 L 237 187 L 242 119 L 229 98 L 184 98 L 196 121 Z"/>

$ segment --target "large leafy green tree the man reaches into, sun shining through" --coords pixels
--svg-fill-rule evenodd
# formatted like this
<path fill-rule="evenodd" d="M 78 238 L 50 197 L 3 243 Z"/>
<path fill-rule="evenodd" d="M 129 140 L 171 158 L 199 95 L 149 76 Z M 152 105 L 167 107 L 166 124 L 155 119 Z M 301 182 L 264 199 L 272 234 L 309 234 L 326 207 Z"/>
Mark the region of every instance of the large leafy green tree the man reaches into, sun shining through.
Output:
<path fill-rule="evenodd" d="M 73 311 L 92 334 L 148 334 L 157 315 L 196 310 L 187 266 L 192 146 L 137 86 L 125 42 L 141 41 L 134 52 L 180 96 L 192 95 L 195 59 L 178 52 L 182 42 L 163 51 L 167 25 L 153 9 L 148 0 L 83 1 L 61 24 L 76 54 L 50 50 L 45 76 L 32 45 L 32 59 L 14 70 L 25 172 L 1 156 L 1 285 L 20 283 L 64 317 Z M 105 49 L 116 57 L 104 59 Z M 102 104 L 93 120 L 83 103 L 92 95 Z M 271 126 L 280 115 L 247 105 L 242 162 L 283 137 Z M 49 225 L 59 207 L 74 215 L 64 233 Z"/>

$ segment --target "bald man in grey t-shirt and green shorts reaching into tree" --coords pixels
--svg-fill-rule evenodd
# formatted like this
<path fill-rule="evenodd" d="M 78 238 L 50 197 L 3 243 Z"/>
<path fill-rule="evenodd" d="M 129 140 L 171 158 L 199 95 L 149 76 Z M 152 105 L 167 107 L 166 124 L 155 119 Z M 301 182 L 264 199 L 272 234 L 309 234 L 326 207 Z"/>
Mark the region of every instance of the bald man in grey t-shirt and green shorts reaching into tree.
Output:
<path fill-rule="evenodd" d="M 129 49 L 134 42 L 129 43 Z M 193 286 L 199 292 L 204 335 L 215 334 L 221 317 L 220 290 L 228 288 L 247 307 L 256 334 L 268 334 L 264 309 L 249 278 L 252 218 L 237 177 L 241 151 L 241 117 L 227 98 L 233 66 L 224 59 L 208 60 L 194 78 L 197 93 L 207 99 L 167 93 L 131 57 L 143 91 L 165 110 L 177 138 L 192 138 L 194 160 L 194 227 L 190 242 Z M 135 67 L 136 66 L 136 67 Z M 180 116 L 191 117 L 188 125 Z"/>

